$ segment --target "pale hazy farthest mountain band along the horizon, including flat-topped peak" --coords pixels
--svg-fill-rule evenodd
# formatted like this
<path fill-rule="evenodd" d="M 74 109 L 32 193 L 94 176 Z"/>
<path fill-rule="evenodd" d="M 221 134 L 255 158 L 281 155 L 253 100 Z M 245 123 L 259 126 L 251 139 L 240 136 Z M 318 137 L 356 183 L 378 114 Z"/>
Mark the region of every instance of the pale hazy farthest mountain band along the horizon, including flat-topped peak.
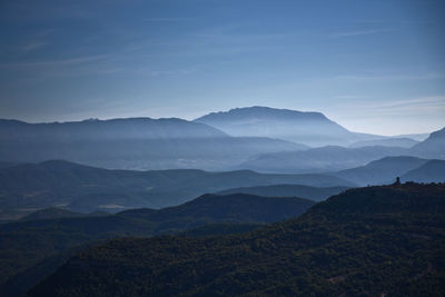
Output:
<path fill-rule="evenodd" d="M 445 158 L 444 130 L 417 142 L 352 132 L 319 112 L 267 107 L 214 112 L 195 121 L 0 120 L 0 168 L 62 159 L 109 169 L 303 174 L 349 169 L 388 156 Z"/>

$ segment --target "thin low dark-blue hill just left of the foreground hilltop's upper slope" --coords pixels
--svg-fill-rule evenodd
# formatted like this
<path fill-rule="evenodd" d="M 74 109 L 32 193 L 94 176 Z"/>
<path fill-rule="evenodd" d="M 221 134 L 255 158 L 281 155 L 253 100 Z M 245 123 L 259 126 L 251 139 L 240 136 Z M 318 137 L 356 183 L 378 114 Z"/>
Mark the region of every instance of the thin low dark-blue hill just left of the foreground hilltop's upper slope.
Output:
<path fill-rule="evenodd" d="M 316 188 L 301 185 L 273 185 L 261 187 L 234 188 L 219 191 L 218 194 L 228 195 L 243 192 L 267 197 L 303 197 L 314 201 L 322 201 L 346 189 L 347 187 Z"/>

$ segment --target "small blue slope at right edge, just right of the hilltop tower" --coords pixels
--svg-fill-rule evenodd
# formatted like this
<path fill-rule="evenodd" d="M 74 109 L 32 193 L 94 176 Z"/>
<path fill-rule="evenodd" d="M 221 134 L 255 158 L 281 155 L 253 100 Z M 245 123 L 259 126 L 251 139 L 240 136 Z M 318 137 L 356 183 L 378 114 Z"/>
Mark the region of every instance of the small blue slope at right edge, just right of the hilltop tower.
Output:
<path fill-rule="evenodd" d="M 403 181 L 445 182 L 445 160 L 429 160 L 400 177 Z"/>

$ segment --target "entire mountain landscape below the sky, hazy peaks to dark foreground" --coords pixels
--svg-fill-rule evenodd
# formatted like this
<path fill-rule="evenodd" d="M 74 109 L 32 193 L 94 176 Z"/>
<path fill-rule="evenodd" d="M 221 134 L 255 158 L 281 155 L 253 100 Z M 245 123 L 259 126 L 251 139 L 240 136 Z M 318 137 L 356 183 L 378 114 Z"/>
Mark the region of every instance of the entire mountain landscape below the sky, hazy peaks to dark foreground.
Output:
<path fill-rule="evenodd" d="M 445 128 L 412 137 L 266 107 L 0 120 L 0 296 L 441 296 Z"/>

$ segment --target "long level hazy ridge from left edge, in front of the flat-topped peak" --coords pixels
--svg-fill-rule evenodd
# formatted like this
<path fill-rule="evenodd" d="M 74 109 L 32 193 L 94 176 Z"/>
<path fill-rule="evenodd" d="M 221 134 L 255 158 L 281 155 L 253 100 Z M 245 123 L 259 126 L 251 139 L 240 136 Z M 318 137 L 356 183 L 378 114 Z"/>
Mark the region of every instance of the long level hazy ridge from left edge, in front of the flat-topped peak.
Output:
<path fill-rule="evenodd" d="M 129 118 L 75 122 L 0 121 L 0 160 L 63 159 L 105 168 L 226 169 L 250 156 L 305 149 L 268 138 L 235 138 L 199 122 Z"/>

